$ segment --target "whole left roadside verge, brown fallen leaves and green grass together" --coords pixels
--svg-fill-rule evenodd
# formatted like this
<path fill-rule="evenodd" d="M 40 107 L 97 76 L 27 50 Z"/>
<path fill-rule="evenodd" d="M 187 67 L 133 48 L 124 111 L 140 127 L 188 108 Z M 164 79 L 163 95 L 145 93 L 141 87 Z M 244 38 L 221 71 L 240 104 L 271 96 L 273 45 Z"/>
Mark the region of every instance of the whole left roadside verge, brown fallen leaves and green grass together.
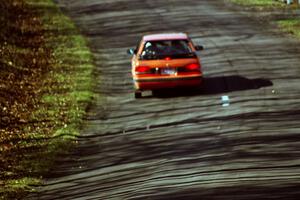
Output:
<path fill-rule="evenodd" d="M 21 199 L 76 145 L 93 61 L 52 0 L 1 1 L 0 25 L 0 199 Z"/>

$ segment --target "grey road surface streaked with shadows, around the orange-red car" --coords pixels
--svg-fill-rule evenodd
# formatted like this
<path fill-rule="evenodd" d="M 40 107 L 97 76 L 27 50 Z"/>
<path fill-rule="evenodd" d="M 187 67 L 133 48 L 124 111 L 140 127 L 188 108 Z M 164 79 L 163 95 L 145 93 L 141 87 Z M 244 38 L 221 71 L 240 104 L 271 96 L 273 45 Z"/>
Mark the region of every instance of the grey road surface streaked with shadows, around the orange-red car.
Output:
<path fill-rule="evenodd" d="M 299 42 L 223 0 L 58 2 L 91 40 L 100 97 L 36 198 L 297 199 Z M 205 46 L 204 89 L 134 99 L 126 49 L 170 31 Z"/>

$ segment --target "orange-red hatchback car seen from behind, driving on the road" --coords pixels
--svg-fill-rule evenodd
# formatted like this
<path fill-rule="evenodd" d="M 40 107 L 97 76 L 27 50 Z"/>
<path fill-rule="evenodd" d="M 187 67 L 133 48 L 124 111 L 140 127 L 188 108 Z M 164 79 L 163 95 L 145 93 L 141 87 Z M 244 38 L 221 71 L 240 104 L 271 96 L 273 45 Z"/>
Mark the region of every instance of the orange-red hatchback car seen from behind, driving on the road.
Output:
<path fill-rule="evenodd" d="M 197 87 L 202 83 L 201 64 L 185 33 L 145 35 L 136 49 L 127 52 L 131 60 L 135 97 L 142 91 L 176 87 Z"/>

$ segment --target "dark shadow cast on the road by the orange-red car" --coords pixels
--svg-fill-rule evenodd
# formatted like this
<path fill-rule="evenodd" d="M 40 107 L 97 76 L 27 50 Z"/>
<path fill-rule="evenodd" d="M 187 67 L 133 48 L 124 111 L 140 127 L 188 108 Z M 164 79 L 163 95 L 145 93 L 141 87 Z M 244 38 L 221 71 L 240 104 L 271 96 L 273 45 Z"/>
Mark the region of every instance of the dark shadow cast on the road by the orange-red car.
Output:
<path fill-rule="evenodd" d="M 253 90 L 262 87 L 272 86 L 268 79 L 248 79 L 243 76 L 220 76 L 207 77 L 200 88 L 176 88 L 159 90 L 153 93 L 154 97 L 172 98 L 180 96 L 198 96 L 228 93 L 242 90 Z"/>

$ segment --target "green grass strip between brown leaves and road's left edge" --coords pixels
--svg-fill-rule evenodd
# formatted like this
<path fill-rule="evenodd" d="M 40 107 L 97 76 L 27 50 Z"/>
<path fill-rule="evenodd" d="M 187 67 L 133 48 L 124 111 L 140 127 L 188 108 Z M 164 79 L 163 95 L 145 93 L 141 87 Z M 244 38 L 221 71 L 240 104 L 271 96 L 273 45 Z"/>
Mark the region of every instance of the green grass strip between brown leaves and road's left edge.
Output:
<path fill-rule="evenodd" d="M 42 16 L 43 48 L 51 51 L 50 68 L 42 77 L 43 84 L 38 92 L 42 95 L 28 119 L 35 125 L 24 127 L 25 140 L 20 140 L 17 147 L 34 147 L 38 151 L 24 153 L 18 166 L 14 166 L 15 170 L 5 172 L 7 177 L 18 178 L 0 180 L 0 199 L 19 199 L 35 191 L 33 186 L 42 183 L 42 175 L 53 166 L 55 157 L 76 145 L 85 108 L 94 96 L 94 65 L 86 39 L 52 0 L 24 1 L 32 11 L 38 9 Z M 20 49 L 18 52 L 26 51 Z"/>

